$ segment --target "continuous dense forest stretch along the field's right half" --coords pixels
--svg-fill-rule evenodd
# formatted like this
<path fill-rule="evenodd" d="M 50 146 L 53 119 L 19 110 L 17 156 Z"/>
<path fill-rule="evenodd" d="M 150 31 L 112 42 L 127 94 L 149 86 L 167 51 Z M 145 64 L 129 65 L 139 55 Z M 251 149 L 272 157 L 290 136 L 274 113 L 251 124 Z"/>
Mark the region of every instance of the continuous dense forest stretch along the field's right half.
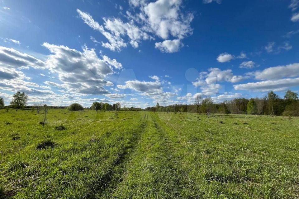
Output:
<path fill-rule="evenodd" d="M 287 90 L 284 98 L 280 98 L 273 91 L 264 98 L 236 98 L 221 103 L 214 103 L 208 96 L 202 98 L 200 95 L 194 99 L 194 104 L 174 104 L 170 106 L 160 106 L 157 103 L 154 107 L 147 107 L 147 111 L 163 112 L 192 112 L 203 113 L 224 113 L 224 114 L 251 114 L 251 115 L 284 115 L 299 116 L 298 94 Z"/>

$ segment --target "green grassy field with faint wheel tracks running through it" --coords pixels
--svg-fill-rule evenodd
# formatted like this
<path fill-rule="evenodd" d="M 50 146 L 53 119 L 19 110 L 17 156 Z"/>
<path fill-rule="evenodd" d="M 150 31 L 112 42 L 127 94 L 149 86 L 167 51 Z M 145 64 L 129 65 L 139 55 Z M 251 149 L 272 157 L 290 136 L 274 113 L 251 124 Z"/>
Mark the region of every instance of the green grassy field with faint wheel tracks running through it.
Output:
<path fill-rule="evenodd" d="M 0 198 L 299 198 L 299 118 L 0 109 Z"/>

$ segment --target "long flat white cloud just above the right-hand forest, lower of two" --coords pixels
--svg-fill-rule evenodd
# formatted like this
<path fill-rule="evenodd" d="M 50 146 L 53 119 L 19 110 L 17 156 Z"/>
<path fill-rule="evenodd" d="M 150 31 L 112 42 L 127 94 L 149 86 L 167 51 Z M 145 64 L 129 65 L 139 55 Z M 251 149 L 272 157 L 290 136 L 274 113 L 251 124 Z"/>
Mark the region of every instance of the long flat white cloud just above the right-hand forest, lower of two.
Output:
<path fill-rule="evenodd" d="M 299 78 L 286 78 L 280 80 L 259 81 L 247 84 L 234 85 L 235 90 L 254 90 L 254 91 L 280 91 L 288 87 L 299 86 Z"/>

